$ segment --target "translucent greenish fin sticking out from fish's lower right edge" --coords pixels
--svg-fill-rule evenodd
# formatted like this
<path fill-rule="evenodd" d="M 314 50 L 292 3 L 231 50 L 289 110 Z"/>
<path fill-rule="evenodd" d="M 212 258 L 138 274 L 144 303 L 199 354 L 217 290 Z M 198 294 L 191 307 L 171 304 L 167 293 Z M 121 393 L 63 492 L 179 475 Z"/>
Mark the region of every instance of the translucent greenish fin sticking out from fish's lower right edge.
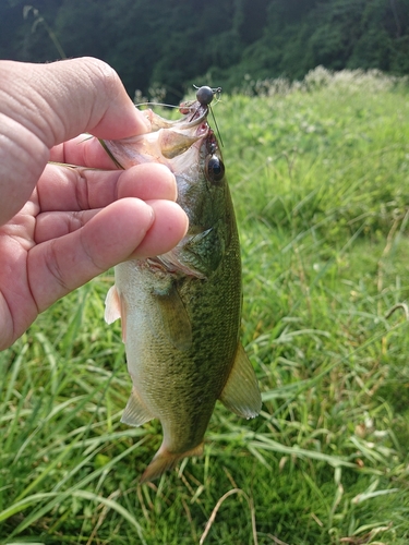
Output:
<path fill-rule="evenodd" d="M 257 379 L 241 343 L 219 399 L 230 411 L 244 419 L 254 419 L 262 409 Z"/>

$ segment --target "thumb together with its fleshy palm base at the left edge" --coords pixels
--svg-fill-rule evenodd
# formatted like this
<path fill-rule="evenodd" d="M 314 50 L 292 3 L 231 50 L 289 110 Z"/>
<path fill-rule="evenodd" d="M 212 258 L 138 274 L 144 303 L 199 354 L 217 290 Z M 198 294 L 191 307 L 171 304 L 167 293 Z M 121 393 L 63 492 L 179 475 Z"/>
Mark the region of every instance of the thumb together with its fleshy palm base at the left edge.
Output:
<path fill-rule="evenodd" d="M 0 226 L 25 204 L 52 146 L 83 132 L 116 140 L 148 130 L 112 68 L 82 58 L 0 61 Z"/>

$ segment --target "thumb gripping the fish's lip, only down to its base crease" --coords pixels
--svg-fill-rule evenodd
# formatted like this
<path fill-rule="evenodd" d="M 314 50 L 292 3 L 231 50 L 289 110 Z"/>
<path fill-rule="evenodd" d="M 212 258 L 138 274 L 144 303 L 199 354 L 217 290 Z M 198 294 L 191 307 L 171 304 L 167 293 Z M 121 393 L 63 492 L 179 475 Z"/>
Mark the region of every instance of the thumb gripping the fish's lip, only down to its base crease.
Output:
<path fill-rule="evenodd" d="M 0 69 L 0 93 L 5 90 L 1 109 L 9 107 L 10 116 L 48 148 L 82 132 L 116 140 L 147 131 L 117 72 L 104 61 L 2 61 Z"/>

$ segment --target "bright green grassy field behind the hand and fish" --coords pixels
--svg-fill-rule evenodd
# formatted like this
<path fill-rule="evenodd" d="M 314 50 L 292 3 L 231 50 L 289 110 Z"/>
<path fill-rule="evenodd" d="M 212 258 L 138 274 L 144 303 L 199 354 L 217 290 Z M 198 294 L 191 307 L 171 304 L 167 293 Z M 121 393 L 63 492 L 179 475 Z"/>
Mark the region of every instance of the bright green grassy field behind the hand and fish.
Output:
<path fill-rule="evenodd" d="M 218 404 L 203 458 L 137 479 L 160 425 L 130 392 L 111 272 L 0 353 L 0 543 L 409 542 L 409 92 L 316 70 L 215 106 L 263 391 Z"/>

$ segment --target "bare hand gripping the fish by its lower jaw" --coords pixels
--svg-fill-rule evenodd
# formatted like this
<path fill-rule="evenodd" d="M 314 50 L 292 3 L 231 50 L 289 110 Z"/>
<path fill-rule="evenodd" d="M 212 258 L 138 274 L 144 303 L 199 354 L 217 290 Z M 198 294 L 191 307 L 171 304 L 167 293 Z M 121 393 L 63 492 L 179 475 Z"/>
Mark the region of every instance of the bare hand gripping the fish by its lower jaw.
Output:
<path fill-rule="evenodd" d="M 93 277 L 183 238 L 173 174 L 155 164 L 117 170 L 89 136 L 148 130 L 103 61 L 0 61 L 0 350 Z"/>

